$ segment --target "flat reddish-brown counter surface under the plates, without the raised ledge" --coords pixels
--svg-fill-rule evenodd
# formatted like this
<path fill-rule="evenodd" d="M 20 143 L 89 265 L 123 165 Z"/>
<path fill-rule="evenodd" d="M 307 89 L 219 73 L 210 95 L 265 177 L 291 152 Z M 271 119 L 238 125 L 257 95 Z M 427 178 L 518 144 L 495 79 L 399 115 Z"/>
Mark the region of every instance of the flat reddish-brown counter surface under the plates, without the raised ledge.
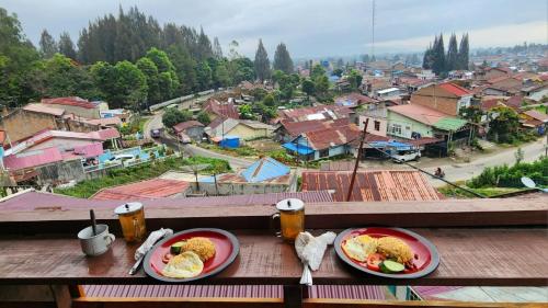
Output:
<path fill-rule="evenodd" d="M 343 264 L 329 248 L 315 284 L 402 284 L 456 286 L 548 285 L 546 228 L 413 229 L 438 249 L 441 265 L 431 275 L 386 280 Z M 292 244 L 262 230 L 237 230 L 240 254 L 215 277 L 196 284 L 298 284 L 302 266 Z M 0 284 L 155 284 L 142 270 L 127 274 L 137 244 L 117 239 L 105 254 L 87 258 L 77 239 L 0 238 Z"/>

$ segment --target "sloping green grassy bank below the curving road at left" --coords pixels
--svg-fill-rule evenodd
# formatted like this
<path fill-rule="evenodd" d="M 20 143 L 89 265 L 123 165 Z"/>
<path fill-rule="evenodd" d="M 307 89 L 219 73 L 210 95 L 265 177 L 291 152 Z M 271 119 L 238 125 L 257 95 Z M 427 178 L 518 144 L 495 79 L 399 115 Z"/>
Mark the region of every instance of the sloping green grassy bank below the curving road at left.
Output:
<path fill-rule="evenodd" d="M 228 161 L 222 159 L 205 158 L 205 157 L 192 157 L 187 159 L 181 159 L 176 157 L 170 157 L 163 160 L 150 161 L 129 168 L 109 170 L 106 176 L 93 180 L 85 180 L 70 189 L 62 189 L 62 190 L 56 189 L 55 193 L 73 197 L 89 198 L 94 193 L 105 187 L 148 180 L 159 176 L 160 174 L 169 170 L 179 170 L 181 166 L 192 166 L 202 163 L 210 164 L 209 168 L 202 170 L 199 172 L 203 174 L 213 174 L 214 172 L 230 171 L 230 166 L 228 164 Z"/>

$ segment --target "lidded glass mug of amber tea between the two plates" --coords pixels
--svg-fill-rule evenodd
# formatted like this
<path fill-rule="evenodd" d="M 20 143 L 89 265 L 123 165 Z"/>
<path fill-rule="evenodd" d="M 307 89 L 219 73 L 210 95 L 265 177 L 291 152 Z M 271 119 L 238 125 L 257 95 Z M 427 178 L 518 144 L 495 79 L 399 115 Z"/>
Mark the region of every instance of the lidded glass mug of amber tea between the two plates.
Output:
<path fill-rule="evenodd" d="M 277 237 L 293 242 L 300 232 L 305 231 L 305 203 L 298 198 L 287 198 L 276 204 L 278 213 L 272 219 L 279 219 Z"/>

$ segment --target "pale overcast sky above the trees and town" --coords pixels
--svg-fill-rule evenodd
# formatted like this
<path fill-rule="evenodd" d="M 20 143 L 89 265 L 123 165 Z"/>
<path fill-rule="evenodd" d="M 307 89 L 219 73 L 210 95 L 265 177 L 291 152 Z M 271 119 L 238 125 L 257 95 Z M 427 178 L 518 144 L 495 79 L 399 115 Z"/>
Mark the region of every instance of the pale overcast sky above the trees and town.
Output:
<path fill-rule="evenodd" d="M 468 32 L 470 47 L 548 43 L 547 0 L 377 0 L 376 53 L 422 52 L 437 33 Z M 269 55 L 279 42 L 293 57 L 370 53 L 372 0 L 0 0 L 37 44 L 47 28 L 77 41 L 90 20 L 137 5 L 160 23 L 203 26 L 224 47 L 236 39 L 253 56 L 262 38 Z M 448 39 L 446 38 L 446 44 Z"/>

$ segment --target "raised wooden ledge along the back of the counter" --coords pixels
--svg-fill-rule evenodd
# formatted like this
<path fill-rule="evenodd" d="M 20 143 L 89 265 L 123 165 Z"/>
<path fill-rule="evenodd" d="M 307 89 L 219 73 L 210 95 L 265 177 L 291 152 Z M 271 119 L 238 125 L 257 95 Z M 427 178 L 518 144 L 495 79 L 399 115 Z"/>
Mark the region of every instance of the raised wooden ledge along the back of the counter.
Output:
<path fill-rule="evenodd" d="M 273 206 L 162 207 L 145 209 L 148 229 L 217 226 L 224 229 L 266 229 Z M 95 209 L 100 223 L 119 233 L 111 209 Z M 548 195 L 507 199 L 452 199 L 436 202 L 369 202 L 306 205 L 306 225 L 335 229 L 366 225 L 399 227 L 548 226 Z M 73 233 L 89 225 L 89 212 L 3 210 L 1 233 Z M 333 219 L 336 217 L 336 219 Z"/>

